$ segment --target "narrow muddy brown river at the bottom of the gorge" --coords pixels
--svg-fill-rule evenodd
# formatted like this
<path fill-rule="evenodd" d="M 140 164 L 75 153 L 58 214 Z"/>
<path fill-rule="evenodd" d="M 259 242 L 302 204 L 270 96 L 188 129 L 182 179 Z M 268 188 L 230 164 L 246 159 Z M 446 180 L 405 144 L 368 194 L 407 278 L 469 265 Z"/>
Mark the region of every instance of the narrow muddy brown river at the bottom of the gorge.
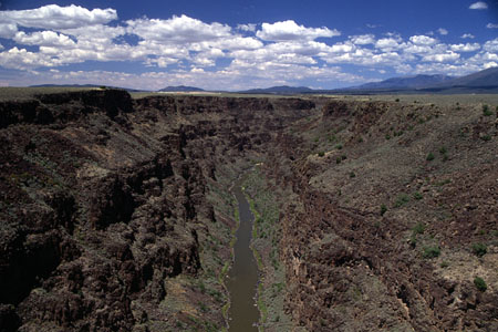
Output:
<path fill-rule="evenodd" d="M 230 292 L 230 329 L 231 332 L 258 331 L 256 323 L 259 311 L 256 308 L 256 288 L 258 266 L 251 248 L 252 215 L 249 203 L 241 190 L 241 179 L 235 183 L 231 191 L 239 205 L 240 226 L 237 230 L 237 242 L 234 247 L 235 262 L 228 273 L 227 288 Z"/>

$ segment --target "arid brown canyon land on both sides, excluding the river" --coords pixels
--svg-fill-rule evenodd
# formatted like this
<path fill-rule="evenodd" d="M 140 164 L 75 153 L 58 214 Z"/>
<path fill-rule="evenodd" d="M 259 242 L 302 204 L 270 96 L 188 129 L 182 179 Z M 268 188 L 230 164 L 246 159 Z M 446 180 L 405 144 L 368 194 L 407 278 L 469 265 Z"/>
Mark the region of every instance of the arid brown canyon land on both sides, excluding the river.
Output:
<path fill-rule="evenodd" d="M 0 92 L 0 331 L 498 331 L 497 95 Z M 250 299 L 248 299 L 250 300 Z"/>

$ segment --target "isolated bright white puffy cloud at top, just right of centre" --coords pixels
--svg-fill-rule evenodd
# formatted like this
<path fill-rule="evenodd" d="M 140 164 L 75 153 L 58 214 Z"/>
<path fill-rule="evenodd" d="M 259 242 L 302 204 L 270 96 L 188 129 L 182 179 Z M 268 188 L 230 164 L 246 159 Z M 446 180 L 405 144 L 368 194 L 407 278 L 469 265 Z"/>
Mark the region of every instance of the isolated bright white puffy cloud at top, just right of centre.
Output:
<path fill-rule="evenodd" d="M 281 21 L 276 23 L 262 23 L 261 30 L 256 35 L 266 41 L 314 40 L 320 37 L 335 37 L 341 33 L 338 30 L 323 28 L 305 28 L 294 21 Z"/>

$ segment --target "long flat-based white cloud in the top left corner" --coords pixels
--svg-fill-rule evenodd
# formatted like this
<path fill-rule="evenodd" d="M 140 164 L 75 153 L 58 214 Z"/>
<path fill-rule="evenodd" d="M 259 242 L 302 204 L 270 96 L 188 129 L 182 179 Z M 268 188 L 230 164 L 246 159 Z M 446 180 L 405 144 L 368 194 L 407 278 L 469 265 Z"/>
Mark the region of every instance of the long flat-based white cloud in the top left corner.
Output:
<path fill-rule="evenodd" d="M 115 19 L 117 13 L 114 9 L 87 10 L 74 4 L 69 7 L 49 4 L 37 9 L 0 11 L 1 22 L 54 30 L 104 24 Z"/>

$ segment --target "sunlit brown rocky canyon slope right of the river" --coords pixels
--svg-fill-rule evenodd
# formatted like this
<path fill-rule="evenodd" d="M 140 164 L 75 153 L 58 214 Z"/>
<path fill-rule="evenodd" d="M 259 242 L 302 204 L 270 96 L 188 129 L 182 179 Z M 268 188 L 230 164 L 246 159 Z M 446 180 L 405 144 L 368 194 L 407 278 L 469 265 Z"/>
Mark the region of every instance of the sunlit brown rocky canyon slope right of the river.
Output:
<path fill-rule="evenodd" d="M 497 129 L 480 105 L 338 101 L 281 135 L 295 162 L 267 172 L 299 197 L 280 242 L 297 325 L 497 330 Z"/>

